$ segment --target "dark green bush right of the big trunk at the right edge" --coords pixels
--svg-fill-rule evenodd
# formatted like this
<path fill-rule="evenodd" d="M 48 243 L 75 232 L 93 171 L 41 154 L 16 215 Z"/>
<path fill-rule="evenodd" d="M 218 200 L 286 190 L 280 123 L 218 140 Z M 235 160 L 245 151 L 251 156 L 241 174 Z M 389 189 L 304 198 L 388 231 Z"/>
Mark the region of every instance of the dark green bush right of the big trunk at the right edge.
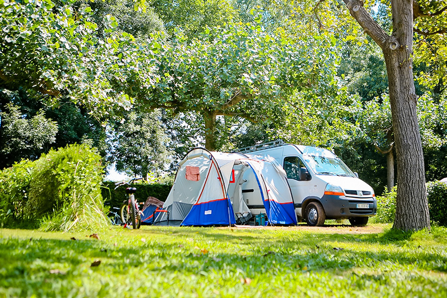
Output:
<path fill-rule="evenodd" d="M 439 181 L 427 183 L 430 220 L 447 226 L 447 184 Z"/>

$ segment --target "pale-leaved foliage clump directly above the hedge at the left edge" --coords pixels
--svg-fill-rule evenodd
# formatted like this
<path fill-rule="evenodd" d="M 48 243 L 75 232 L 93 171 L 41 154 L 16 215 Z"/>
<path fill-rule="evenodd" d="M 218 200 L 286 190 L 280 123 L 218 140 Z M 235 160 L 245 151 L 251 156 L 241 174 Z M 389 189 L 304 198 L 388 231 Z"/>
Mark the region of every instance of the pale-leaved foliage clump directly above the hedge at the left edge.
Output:
<path fill-rule="evenodd" d="M 17 106 L 7 104 L 0 118 L 0 168 L 22 158 L 36 159 L 56 140 L 58 125 L 47 119 L 42 110 L 27 119 Z"/>

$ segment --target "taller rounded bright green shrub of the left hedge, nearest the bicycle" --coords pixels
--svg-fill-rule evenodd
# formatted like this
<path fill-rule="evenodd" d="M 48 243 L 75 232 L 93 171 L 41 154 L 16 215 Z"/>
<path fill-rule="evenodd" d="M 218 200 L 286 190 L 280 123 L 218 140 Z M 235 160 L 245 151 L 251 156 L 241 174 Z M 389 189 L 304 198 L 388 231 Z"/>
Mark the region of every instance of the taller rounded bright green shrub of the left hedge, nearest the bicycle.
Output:
<path fill-rule="evenodd" d="M 34 162 L 24 213 L 43 219 L 43 230 L 108 224 L 101 196 L 101 157 L 88 145 L 50 150 Z"/>

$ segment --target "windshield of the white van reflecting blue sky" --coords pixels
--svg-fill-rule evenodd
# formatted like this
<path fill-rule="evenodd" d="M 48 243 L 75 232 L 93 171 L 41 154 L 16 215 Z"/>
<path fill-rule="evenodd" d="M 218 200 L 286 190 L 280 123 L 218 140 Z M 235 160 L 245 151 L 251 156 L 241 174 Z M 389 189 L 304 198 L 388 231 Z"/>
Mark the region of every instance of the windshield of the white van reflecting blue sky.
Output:
<path fill-rule="evenodd" d="M 317 175 L 355 177 L 354 173 L 339 158 L 303 155 L 304 160 Z"/>

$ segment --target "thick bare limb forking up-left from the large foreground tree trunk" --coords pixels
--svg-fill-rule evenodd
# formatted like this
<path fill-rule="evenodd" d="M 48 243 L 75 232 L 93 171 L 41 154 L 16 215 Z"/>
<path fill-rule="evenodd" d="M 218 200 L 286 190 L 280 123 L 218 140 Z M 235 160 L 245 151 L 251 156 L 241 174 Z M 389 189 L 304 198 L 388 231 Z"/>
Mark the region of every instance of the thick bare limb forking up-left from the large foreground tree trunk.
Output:
<path fill-rule="evenodd" d="M 377 24 L 376 21 L 371 17 L 371 15 L 363 7 L 363 1 L 361 0 L 343 0 L 348 7 L 351 15 L 357 20 L 357 22 L 362 26 L 363 30 L 371 36 L 371 38 L 377 43 L 377 45 L 383 49 L 389 35 L 386 34 L 385 30 Z"/>

